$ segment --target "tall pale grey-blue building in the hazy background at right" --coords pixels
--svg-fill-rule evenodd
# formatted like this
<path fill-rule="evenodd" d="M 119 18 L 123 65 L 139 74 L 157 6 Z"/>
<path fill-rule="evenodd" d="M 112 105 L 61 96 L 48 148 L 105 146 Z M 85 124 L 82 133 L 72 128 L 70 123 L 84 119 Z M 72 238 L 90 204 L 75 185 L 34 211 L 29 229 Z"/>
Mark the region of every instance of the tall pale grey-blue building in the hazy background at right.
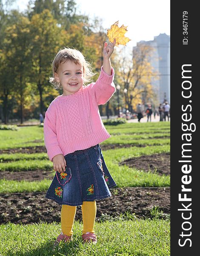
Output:
<path fill-rule="evenodd" d="M 140 41 L 138 44 L 147 44 L 152 47 L 150 63 L 154 72 L 158 73 L 158 79 L 152 79 L 151 84 L 157 94 L 158 102 L 170 103 L 170 36 L 163 33 L 154 36 L 152 41 Z"/>

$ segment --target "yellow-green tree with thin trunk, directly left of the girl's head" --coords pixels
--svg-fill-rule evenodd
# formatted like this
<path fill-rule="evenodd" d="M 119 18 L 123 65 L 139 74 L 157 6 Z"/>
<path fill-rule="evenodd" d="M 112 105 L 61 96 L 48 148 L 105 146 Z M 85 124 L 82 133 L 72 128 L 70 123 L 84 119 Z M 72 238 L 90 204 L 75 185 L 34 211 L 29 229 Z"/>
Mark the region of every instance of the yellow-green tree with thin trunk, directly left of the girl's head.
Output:
<path fill-rule="evenodd" d="M 50 86 L 51 61 L 55 52 L 67 43 L 67 33 L 57 26 L 48 9 L 31 19 L 31 82 L 37 84 L 40 95 L 40 113 L 43 113 L 44 87 Z"/>

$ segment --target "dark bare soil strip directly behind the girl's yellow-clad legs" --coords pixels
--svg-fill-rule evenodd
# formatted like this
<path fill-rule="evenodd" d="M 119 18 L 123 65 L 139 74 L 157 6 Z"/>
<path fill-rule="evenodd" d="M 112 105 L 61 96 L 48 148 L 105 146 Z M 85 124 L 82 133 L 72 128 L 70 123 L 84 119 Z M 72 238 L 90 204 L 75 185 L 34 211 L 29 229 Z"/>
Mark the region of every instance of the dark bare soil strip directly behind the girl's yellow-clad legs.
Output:
<path fill-rule="evenodd" d="M 61 205 L 45 198 L 46 192 L 0 194 L 0 224 L 31 224 L 38 221 L 60 222 Z M 116 217 L 127 211 L 137 217 L 151 217 L 153 207 L 170 213 L 170 188 L 115 188 L 111 198 L 97 200 L 97 220 L 102 214 Z M 77 207 L 76 220 L 82 219 Z"/>

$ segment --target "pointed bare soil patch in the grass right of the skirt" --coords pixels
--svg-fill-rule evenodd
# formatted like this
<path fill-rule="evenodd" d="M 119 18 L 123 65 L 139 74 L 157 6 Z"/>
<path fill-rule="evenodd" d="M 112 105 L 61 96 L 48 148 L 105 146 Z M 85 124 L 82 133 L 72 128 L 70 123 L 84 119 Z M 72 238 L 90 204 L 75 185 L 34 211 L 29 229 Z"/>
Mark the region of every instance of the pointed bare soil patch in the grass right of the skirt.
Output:
<path fill-rule="evenodd" d="M 144 172 L 155 172 L 159 175 L 170 175 L 170 154 L 161 153 L 153 155 L 143 155 L 141 157 L 133 157 L 126 159 L 119 165 L 127 165 L 129 167 L 134 167 Z"/>

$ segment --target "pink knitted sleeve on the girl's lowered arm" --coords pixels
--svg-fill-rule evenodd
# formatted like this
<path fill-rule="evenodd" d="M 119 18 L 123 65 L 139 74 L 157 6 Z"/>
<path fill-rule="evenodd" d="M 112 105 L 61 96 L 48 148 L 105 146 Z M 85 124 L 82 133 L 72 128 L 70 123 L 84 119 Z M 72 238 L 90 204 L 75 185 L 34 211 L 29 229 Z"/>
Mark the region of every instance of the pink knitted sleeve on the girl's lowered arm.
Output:
<path fill-rule="evenodd" d="M 46 111 L 44 119 L 44 143 L 51 162 L 53 162 L 54 156 L 63 154 L 57 140 L 56 119 L 48 111 Z"/>

